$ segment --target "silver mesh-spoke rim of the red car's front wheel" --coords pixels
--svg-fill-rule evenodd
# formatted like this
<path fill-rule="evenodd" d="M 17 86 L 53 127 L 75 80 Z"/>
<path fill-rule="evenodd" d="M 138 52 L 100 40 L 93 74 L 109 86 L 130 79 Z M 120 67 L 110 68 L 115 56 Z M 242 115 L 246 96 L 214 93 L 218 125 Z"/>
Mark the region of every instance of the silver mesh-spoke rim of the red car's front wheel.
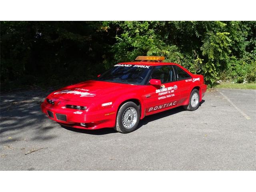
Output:
<path fill-rule="evenodd" d="M 133 107 L 128 107 L 122 116 L 122 124 L 126 129 L 132 128 L 137 122 L 137 111 Z"/>

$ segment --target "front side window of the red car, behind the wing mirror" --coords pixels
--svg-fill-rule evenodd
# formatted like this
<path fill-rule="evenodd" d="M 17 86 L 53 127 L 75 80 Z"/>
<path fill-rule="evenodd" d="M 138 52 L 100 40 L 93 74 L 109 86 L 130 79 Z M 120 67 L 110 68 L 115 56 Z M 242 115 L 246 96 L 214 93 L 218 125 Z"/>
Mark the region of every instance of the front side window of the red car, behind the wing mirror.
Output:
<path fill-rule="evenodd" d="M 159 79 L 161 83 L 175 81 L 174 70 L 171 65 L 156 66 L 151 75 L 152 79 Z"/>

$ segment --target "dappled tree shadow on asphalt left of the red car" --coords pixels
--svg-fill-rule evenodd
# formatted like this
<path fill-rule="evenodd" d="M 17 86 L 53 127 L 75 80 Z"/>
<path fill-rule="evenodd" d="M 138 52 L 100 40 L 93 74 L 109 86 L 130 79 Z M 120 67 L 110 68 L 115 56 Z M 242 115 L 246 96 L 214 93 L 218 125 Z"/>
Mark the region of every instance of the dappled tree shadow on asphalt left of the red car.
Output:
<path fill-rule="evenodd" d="M 56 137 L 50 133 L 54 124 L 46 124 L 47 117 L 41 112 L 40 104 L 45 96 L 44 92 L 36 90 L 8 92 L 0 96 L 0 144 Z"/>

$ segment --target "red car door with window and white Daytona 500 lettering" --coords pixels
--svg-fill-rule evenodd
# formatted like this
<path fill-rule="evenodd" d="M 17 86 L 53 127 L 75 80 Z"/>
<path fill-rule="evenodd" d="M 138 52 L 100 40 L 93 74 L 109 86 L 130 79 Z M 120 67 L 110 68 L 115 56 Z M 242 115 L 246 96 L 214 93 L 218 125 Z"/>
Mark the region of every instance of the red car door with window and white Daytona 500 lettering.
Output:
<path fill-rule="evenodd" d="M 146 113 L 160 112 L 178 104 L 179 85 L 172 65 L 155 66 L 150 79 L 161 80 L 161 86 L 145 86 Z"/>

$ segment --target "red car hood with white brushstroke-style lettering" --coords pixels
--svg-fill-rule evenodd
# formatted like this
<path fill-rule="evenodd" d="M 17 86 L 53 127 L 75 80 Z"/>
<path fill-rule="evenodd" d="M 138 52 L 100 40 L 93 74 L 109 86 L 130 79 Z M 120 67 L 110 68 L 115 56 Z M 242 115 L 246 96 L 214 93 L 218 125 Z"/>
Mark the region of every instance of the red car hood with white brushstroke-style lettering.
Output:
<path fill-rule="evenodd" d="M 62 100 L 91 102 L 95 99 L 103 99 L 107 95 L 127 92 L 131 88 L 134 90 L 136 87 L 137 85 L 132 84 L 90 80 L 61 88 L 52 92 L 50 96 Z"/>

